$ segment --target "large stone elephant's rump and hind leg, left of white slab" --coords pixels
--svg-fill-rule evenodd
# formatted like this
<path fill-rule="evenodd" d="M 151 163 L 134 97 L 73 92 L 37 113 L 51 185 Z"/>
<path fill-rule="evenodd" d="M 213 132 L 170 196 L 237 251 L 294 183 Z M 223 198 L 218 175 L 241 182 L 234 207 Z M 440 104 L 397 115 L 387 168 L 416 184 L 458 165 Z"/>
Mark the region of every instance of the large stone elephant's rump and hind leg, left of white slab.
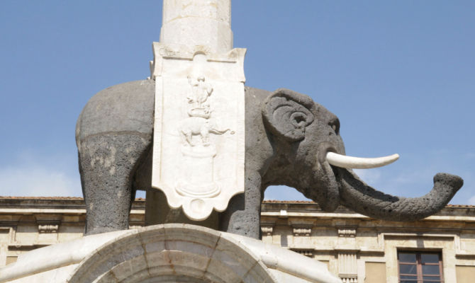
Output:
<path fill-rule="evenodd" d="M 77 121 L 79 172 L 86 200 L 86 233 L 128 229 L 133 172 L 152 141 L 155 83 L 132 81 L 106 88 Z"/>

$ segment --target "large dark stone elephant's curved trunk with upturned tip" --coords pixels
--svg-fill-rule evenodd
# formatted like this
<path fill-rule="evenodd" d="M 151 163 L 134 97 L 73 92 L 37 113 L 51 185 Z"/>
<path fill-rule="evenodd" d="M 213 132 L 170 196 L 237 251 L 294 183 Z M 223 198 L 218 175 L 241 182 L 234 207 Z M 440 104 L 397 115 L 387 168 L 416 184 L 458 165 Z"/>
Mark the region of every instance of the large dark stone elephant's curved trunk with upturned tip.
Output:
<path fill-rule="evenodd" d="M 459 176 L 437 173 L 434 187 L 427 195 L 394 197 L 374 190 L 349 169 L 338 168 L 337 172 L 343 205 L 360 214 L 391 221 L 414 221 L 438 212 L 464 183 Z"/>

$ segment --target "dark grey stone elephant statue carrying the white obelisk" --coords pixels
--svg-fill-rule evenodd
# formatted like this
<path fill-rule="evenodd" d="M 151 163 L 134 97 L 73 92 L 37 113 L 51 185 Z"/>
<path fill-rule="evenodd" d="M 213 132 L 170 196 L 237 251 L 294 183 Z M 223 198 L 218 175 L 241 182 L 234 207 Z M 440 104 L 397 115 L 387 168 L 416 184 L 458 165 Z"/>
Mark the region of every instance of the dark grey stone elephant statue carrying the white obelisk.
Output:
<path fill-rule="evenodd" d="M 131 81 L 100 91 L 82 110 L 76 141 L 86 234 L 128 229 L 136 190 L 147 190 L 147 209 L 157 196 L 167 207 L 164 195 L 150 189 L 154 99 L 155 81 Z M 216 213 L 213 227 L 259 238 L 269 185 L 294 187 L 328 212 L 342 204 L 379 219 L 411 221 L 445 207 L 463 184 L 456 175 L 437 173 L 423 197 L 386 195 L 360 180 L 350 164 L 330 161 L 330 154 L 346 157 L 340 121 L 332 112 L 294 91 L 245 87 L 245 192 Z M 162 209 L 166 215 L 160 221 L 179 221 L 176 210 Z"/>

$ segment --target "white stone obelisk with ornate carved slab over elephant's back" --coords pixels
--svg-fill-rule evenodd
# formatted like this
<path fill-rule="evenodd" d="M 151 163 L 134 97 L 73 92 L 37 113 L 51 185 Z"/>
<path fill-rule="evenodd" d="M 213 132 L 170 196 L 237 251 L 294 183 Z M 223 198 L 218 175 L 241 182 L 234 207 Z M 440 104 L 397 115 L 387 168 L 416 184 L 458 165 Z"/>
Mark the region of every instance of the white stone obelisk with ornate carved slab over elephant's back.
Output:
<path fill-rule="evenodd" d="M 192 220 L 244 192 L 245 49 L 230 0 L 164 0 L 155 79 L 152 187 Z"/>

